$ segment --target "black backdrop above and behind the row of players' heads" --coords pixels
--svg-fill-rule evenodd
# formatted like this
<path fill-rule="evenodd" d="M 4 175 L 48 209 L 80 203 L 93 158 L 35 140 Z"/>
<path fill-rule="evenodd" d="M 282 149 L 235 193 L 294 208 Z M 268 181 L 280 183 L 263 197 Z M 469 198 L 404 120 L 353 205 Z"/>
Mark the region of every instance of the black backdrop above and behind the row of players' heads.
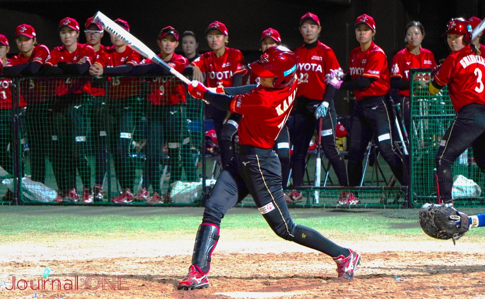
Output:
<path fill-rule="evenodd" d="M 449 48 L 442 37 L 451 17 L 485 17 L 483 0 L 0 0 L 0 33 L 15 45 L 15 27 L 21 23 L 34 26 L 39 43 L 49 48 L 61 45 L 57 26 L 64 17 L 78 20 L 81 30 L 88 17 L 97 11 L 129 22 L 131 33 L 158 51 L 156 38 L 160 29 L 174 26 L 179 33 L 192 30 L 198 35 L 199 51 L 209 50 L 203 37 L 207 25 L 219 20 L 229 32 L 229 47 L 242 50 L 246 62 L 259 55 L 261 31 L 273 27 L 281 33 L 283 44 L 294 49 L 303 43 L 298 32 L 299 18 L 310 11 L 322 22 L 320 40 L 336 53 L 340 65 L 347 68 L 351 49 L 358 46 L 354 33 L 355 18 L 363 13 L 376 21 L 375 42 L 387 53 L 389 62 L 394 53 L 404 47 L 404 27 L 419 20 L 425 28 L 423 47 L 432 50 L 436 59 L 446 57 Z M 105 34 L 103 44 L 110 45 Z M 81 32 L 81 42 L 85 42 Z M 181 51 L 181 47 L 177 49 Z M 340 101 L 338 112 L 346 114 L 350 102 Z"/>

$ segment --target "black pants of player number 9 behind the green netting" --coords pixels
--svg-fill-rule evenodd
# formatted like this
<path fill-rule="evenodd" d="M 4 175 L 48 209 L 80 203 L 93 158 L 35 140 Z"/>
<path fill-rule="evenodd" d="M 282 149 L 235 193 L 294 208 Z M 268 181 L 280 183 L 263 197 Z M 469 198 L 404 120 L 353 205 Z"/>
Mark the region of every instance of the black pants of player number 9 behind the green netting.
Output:
<path fill-rule="evenodd" d="M 163 144 L 167 142 L 170 181 L 173 183 L 182 178 L 185 170 L 188 182 L 197 181 L 195 160 L 192 157 L 189 130 L 185 104 L 162 106 L 148 104 L 146 163 L 143 171 L 143 186 L 148 189 L 152 185 L 153 191 L 160 193 L 160 156 Z"/>

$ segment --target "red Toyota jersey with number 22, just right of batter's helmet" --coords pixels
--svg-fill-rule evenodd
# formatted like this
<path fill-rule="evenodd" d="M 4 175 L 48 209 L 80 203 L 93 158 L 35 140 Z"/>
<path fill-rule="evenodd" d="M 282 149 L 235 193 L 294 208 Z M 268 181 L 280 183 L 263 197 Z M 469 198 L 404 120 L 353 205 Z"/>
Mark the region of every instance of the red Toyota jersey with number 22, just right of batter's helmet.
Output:
<path fill-rule="evenodd" d="M 298 57 L 298 92 L 296 97 L 305 97 L 311 100 L 323 100 L 325 96 L 325 74 L 330 73 L 330 69 L 340 68 L 335 53 L 330 47 L 322 42 L 311 48 L 305 45 L 294 50 Z"/>

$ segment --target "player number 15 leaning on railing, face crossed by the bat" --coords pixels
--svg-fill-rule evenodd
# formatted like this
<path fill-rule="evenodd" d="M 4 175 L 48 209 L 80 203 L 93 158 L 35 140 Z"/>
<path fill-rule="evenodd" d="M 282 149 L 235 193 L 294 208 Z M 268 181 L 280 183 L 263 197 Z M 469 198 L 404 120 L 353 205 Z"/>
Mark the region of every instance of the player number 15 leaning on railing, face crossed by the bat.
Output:
<path fill-rule="evenodd" d="M 129 32 L 127 21 L 118 18 L 114 22 Z M 91 75 L 127 74 L 140 63 L 140 54 L 132 50 L 123 38 L 111 34 L 111 42 L 113 46 L 104 50 L 104 57 L 100 57 L 89 69 Z M 140 93 L 138 78 L 111 77 L 108 83 L 107 114 L 102 131 L 107 134 L 108 149 L 122 189 L 120 195 L 111 199 L 114 203 L 133 201 L 131 189 L 135 181 L 135 166 L 129 153 L 135 131 L 136 108 L 141 102 Z"/>

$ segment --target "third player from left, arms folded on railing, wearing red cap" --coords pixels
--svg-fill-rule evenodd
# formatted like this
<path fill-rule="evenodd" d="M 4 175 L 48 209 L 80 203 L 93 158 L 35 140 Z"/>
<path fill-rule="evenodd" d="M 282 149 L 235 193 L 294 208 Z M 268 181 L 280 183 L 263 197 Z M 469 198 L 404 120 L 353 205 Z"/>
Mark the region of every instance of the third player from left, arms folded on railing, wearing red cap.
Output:
<path fill-rule="evenodd" d="M 86 73 L 95 60 L 95 51 L 93 47 L 78 42 L 78 21 L 71 17 L 62 19 L 59 23 L 59 36 L 63 46 L 50 51 L 50 58 L 41 71 L 52 76 Z M 87 81 L 87 78 L 56 80 L 56 99 L 52 104 L 52 170 L 58 185 L 55 202 L 79 200 L 76 170 L 84 186 L 81 200 L 86 203 L 92 201 L 91 166 L 87 160 L 89 110 L 83 90 Z"/>

